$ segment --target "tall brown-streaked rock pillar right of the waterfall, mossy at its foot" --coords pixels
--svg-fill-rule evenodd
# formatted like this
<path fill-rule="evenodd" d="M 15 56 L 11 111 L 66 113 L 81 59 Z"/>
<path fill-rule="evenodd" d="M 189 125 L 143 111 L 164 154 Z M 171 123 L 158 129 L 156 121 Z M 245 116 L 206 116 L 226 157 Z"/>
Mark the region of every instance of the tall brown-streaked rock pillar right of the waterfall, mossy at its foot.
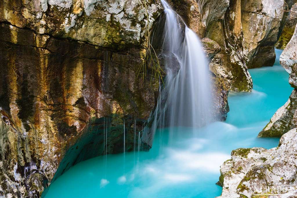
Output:
<path fill-rule="evenodd" d="M 206 37 L 217 42 L 222 51 L 222 68 L 231 72 L 231 90 L 251 91 L 252 78 L 247 71 L 244 37 L 241 28 L 241 7 L 238 0 L 198 0 Z"/>

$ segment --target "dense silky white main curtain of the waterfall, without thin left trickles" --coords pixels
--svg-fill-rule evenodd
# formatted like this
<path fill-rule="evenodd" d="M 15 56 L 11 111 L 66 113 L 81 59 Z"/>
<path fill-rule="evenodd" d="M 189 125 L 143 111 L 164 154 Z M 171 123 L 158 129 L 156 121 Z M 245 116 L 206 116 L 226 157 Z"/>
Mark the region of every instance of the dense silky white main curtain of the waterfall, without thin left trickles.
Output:
<path fill-rule="evenodd" d="M 164 49 L 177 58 L 180 70 L 176 77 L 168 72 L 168 115 L 170 126 L 201 126 L 210 120 L 211 82 L 208 62 L 198 36 L 185 25 L 184 40 L 179 16 L 165 0 Z M 182 24 L 184 25 L 184 24 Z M 172 57 L 169 57 L 172 58 Z M 166 63 L 172 61 L 168 60 Z"/>

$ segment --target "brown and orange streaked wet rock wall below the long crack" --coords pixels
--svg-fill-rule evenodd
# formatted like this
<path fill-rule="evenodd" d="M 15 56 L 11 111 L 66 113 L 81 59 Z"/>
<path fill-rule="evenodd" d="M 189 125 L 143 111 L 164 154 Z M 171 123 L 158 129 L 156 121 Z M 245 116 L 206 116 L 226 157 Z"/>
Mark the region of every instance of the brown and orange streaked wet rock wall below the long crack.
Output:
<path fill-rule="evenodd" d="M 0 34 L 1 196 L 40 196 L 66 151 L 85 134 L 94 132 L 94 156 L 102 155 L 107 124 L 96 118 L 117 115 L 110 118 L 108 153 L 123 152 L 124 121 L 132 150 L 134 119 L 142 130 L 158 90 L 149 74 L 138 77 L 139 47 L 108 50 L 4 23 Z M 75 148 L 77 156 L 83 147 Z"/>

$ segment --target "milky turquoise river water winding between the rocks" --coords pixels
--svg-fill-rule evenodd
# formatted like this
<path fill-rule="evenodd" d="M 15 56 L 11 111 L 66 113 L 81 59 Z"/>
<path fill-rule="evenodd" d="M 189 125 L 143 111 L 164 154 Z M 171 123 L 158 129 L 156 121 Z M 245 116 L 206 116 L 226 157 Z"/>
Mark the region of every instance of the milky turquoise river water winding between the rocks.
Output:
<path fill-rule="evenodd" d="M 281 50 L 277 50 L 279 57 Z M 194 133 L 187 128 L 158 131 L 149 152 L 108 155 L 71 167 L 50 185 L 46 198 L 213 198 L 219 166 L 240 147 L 272 148 L 276 138 L 257 138 L 275 111 L 290 96 L 288 74 L 276 61 L 273 67 L 250 69 L 252 93 L 230 93 L 230 113 Z M 124 161 L 125 160 L 125 161 Z"/>

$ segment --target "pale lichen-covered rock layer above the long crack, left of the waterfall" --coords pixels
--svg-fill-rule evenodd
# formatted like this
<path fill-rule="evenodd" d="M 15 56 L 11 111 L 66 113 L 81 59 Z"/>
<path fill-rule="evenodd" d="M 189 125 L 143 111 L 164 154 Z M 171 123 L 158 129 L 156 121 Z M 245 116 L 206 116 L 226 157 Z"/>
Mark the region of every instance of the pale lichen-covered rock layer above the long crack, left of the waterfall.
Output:
<path fill-rule="evenodd" d="M 138 45 L 162 9 L 159 1 L 0 1 L 0 22 L 103 47 Z M 146 5 L 144 4 L 146 2 Z M 147 21 L 146 14 L 149 21 Z"/>

